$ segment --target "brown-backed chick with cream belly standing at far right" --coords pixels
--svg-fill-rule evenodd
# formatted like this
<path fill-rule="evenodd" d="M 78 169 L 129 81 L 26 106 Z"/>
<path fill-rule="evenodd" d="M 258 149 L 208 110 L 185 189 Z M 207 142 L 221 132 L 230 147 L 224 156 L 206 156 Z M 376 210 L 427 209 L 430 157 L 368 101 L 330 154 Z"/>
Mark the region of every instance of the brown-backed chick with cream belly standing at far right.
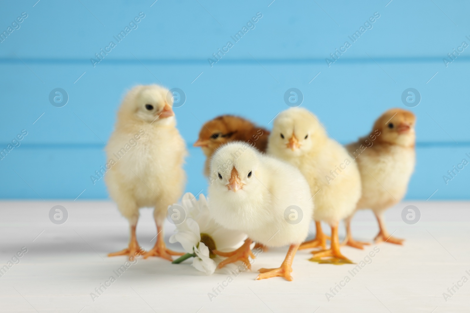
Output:
<path fill-rule="evenodd" d="M 403 199 L 415 169 L 415 121 L 415 115 L 410 111 L 390 109 L 376 120 L 367 137 L 347 145 L 350 155 L 356 158 L 362 182 L 362 195 L 356 210 L 371 209 L 376 215 L 380 228 L 376 242 L 403 242 L 389 234 L 383 214 Z M 345 221 L 345 243 L 363 249 L 366 243 L 355 241 L 351 236 L 353 215 Z"/>

